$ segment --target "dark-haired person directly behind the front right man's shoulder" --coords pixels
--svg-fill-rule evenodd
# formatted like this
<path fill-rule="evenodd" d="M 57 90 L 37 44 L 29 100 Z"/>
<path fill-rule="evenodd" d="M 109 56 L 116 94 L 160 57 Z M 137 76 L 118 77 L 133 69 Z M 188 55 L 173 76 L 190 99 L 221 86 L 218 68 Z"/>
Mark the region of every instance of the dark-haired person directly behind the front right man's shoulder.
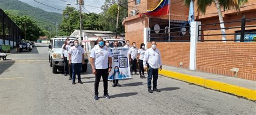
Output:
<path fill-rule="evenodd" d="M 140 44 L 140 49 L 138 50 L 138 63 L 139 63 L 139 75 L 140 75 L 140 78 L 146 78 L 144 76 L 144 69 L 143 69 L 143 58 L 144 58 L 144 55 L 145 55 L 145 44 L 142 43 Z"/>

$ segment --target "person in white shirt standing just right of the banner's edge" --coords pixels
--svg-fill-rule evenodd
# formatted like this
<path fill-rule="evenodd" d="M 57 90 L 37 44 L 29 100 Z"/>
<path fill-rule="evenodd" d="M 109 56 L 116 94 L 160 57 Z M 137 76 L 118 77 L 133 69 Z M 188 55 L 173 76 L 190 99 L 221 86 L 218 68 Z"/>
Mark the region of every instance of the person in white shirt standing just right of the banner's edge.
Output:
<path fill-rule="evenodd" d="M 131 62 L 131 75 L 132 74 L 132 71 L 134 71 L 135 75 L 139 75 L 137 73 L 137 55 L 138 55 L 138 49 L 136 48 L 136 43 L 133 42 L 132 43 L 132 48 L 130 48 L 129 50 L 129 59 L 130 59 L 130 62 Z"/>

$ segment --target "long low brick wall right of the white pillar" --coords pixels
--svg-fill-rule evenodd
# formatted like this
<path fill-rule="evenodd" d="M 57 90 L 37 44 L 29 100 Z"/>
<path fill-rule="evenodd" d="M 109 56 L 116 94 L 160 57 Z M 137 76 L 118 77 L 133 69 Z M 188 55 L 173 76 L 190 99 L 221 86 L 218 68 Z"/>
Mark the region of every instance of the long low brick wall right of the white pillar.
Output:
<path fill-rule="evenodd" d="M 197 44 L 197 70 L 234 77 L 233 67 L 238 78 L 256 80 L 256 43 Z"/>

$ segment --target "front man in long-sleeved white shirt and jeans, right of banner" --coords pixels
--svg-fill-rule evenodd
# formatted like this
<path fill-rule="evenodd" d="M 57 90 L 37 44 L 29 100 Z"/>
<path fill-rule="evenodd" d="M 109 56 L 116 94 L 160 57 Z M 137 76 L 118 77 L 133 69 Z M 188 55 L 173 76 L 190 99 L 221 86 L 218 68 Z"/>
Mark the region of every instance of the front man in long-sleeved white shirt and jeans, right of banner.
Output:
<path fill-rule="evenodd" d="M 157 89 L 157 79 L 158 79 L 158 67 L 160 71 L 162 70 L 162 62 L 160 51 L 156 49 L 157 43 L 152 41 L 151 48 L 147 49 L 143 59 L 144 70 L 147 69 L 147 63 L 149 63 L 149 71 L 147 71 L 147 90 L 152 93 L 153 91 L 160 92 Z M 151 80 L 153 76 L 153 91 L 151 90 Z"/>

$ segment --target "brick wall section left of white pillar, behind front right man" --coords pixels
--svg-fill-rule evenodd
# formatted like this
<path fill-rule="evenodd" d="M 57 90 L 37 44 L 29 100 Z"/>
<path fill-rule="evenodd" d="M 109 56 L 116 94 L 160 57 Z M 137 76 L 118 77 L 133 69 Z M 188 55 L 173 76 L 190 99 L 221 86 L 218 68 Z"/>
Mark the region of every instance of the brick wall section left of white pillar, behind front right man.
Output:
<path fill-rule="evenodd" d="M 147 43 L 147 48 L 151 48 L 151 43 Z M 190 64 L 190 43 L 189 42 L 158 42 L 157 49 L 160 50 L 163 65 L 170 65 L 188 69 Z"/>

